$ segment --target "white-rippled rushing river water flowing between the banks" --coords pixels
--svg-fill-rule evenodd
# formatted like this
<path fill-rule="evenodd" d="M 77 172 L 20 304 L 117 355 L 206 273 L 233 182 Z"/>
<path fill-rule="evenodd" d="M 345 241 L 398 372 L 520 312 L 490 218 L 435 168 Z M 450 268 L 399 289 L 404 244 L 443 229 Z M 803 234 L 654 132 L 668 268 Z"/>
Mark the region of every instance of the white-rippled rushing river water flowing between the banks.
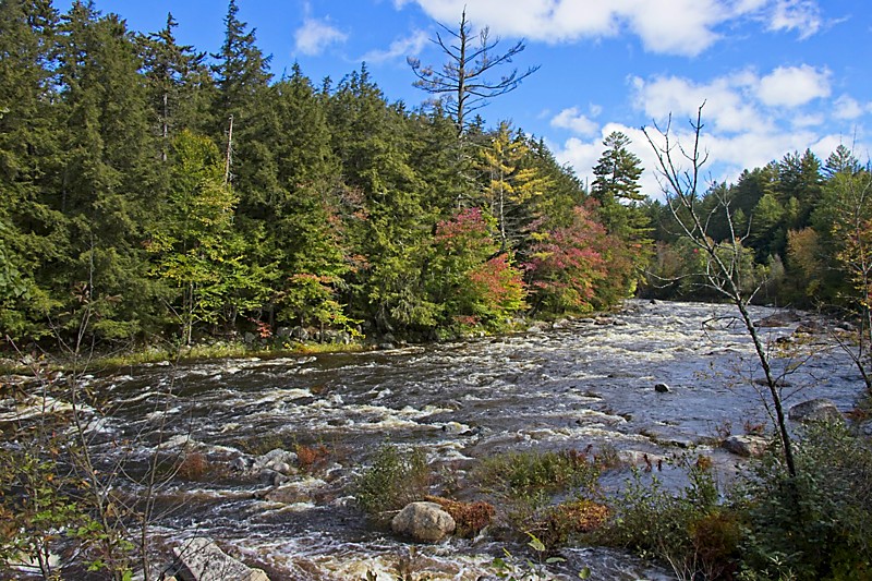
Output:
<path fill-rule="evenodd" d="M 408 545 L 367 525 L 347 496 L 354 471 L 384 441 L 421 446 L 429 461 L 461 467 L 507 450 L 589 445 L 609 445 L 625 458 L 692 448 L 725 470 L 734 467 L 735 457 L 706 443 L 728 426 L 742 433 L 746 424 L 764 423 L 766 415 L 750 342 L 731 313 L 727 306 L 633 301 L 607 319 L 500 338 L 137 367 L 89 378 L 123 402 L 93 428 L 107 457 L 147 458 L 158 441 L 166 449 L 190 438 L 189 446 L 225 465 L 258 439 L 324 444 L 331 465 L 294 476 L 281 498 L 265 496 L 268 486 L 256 477 L 229 472 L 171 481 L 158 495 L 155 531 L 168 545 L 194 534 L 216 538 L 264 566 L 274 581 L 361 579 L 367 570 L 389 579 Z M 772 313 L 756 308 L 754 316 Z M 764 335 L 775 341 L 795 327 Z M 838 350 L 819 344 L 812 351 L 815 356 L 789 377 L 786 407 L 824 397 L 850 409 L 860 389 L 857 373 Z M 655 391 L 657 383 L 669 391 Z M 122 438 L 133 444 L 112 444 Z M 668 481 L 668 470 L 663 477 Z M 450 540 L 417 546 L 412 560 L 434 579 L 472 580 L 488 574 L 502 546 Z M 564 557 L 565 571 L 590 566 L 594 579 L 669 578 L 609 550 L 569 549 Z"/>

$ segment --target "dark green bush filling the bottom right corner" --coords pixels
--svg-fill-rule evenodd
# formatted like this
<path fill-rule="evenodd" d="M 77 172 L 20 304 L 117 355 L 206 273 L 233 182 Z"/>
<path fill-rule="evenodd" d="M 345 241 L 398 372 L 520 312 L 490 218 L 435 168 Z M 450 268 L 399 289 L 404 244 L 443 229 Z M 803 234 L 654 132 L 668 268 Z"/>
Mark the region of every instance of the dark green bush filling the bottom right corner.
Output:
<path fill-rule="evenodd" d="M 872 446 L 844 424 L 803 428 L 797 476 L 768 457 L 743 492 L 743 565 L 795 579 L 872 577 Z M 777 567 L 775 566 L 777 565 Z"/>

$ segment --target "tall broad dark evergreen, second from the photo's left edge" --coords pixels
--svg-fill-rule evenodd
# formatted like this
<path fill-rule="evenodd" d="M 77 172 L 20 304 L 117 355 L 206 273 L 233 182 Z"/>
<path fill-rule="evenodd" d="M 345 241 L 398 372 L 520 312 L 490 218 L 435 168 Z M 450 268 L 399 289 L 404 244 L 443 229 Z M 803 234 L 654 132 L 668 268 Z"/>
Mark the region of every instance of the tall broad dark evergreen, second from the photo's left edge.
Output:
<path fill-rule="evenodd" d="M 146 330 L 162 289 L 146 278 L 145 231 L 156 184 L 156 147 L 137 47 L 123 21 L 76 1 L 63 16 L 63 168 L 58 208 L 70 219 L 69 264 L 59 282 L 74 289 L 68 328 L 87 322 L 100 337 Z"/>

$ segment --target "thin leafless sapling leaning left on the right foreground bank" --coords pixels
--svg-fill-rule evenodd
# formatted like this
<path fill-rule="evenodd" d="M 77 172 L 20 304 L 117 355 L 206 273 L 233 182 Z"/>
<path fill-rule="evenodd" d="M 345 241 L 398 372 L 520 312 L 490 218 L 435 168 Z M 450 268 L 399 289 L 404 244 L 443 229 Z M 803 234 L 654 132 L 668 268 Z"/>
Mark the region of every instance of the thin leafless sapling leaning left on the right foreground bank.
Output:
<path fill-rule="evenodd" d="M 655 125 L 654 132 L 649 128 L 643 128 L 643 131 L 656 155 L 661 185 L 666 195 L 669 210 L 678 226 L 679 233 L 688 239 L 706 258 L 705 271 L 702 273 L 705 285 L 725 296 L 737 307 L 741 322 L 751 337 L 754 353 L 765 376 L 765 388 L 768 391 L 768 400 L 764 400 L 764 402 L 775 423 L 787 470 L 791 476 L 796 476 L 797 470 L 782 404 L 779 378 L 773 372 L 768 350 L 748 311 L 748 305 L 760 289 L 760 286 L 749 287 L 747 281 L 743 280 L 747 270 L 742 268 L 742 258 L 746 253 L 746 249 L 741 244 L 743 237 L 737 234 L 735 230 L 729 207 L 730 201 L 726 193 L 715 193 L 717 204 L 707 211 L 703 210 L 700 204 L 704 193 L 700 191 L 702 186 L 701 170 L 708 159 L 707 152 L 701 148 L 700 143 L 704 106 L 705 102 L 697 110 L 697 119 L 690 122 L 693 141 L 690 149 L 686 149 L 677 143 L 670 133 L 671 117 L 666 128 L 661 129 Z M 682 169 L 683 164 L 689 164 L 689 168 Z M 717 213 L 723 213 L 726 219 L 730 232 L 729 240 L 716 242 L 707 235 L 710 221 Z"/>

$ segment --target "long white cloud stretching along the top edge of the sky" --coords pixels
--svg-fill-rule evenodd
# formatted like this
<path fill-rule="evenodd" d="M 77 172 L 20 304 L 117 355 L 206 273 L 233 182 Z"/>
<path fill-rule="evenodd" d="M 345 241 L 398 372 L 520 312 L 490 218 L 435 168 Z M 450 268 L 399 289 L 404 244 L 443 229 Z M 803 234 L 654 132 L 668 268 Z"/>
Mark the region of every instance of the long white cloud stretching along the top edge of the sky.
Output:
<path fill-rule="evenodd" d="M 766 23 L 770 31 L 799 31 L 808 37 L 821 27 L 818 0 L 395 0 L 414 1 L 449 28 L 467 10 L 468 20 L 495 34 L 548 44 L 638 36 L 651 52 L 697 56 L 716 43 L 720 28 L 738 20 Z"/>

